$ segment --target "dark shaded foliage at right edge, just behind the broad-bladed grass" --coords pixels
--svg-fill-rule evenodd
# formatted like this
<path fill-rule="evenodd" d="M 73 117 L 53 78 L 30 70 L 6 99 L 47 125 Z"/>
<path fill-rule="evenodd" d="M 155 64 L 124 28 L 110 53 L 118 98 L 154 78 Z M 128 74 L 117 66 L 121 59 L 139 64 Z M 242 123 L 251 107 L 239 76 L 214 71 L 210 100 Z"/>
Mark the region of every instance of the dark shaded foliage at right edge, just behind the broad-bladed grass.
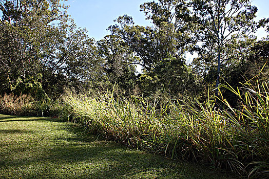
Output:
<path fill-rule="evenodd" d="M 247 49 L 242 55 L 244 57 L 239 57 L 236 59 L 237 63 L 223 69 L 225 74 L 223 74 L 222 82 L 234 88 L 239 87 L 240 92 L 244 93 L 246 90 L 240 81 L 248 81 L 256 77 L 258 81 L 268 80 L 268 41 L 242 43 L 239 44 L 238 49 L 242 51 Z M 249 47 L 245 48 L 245 46 Z M 223 89 L 222 95 L 225 96 L 231 106 L 239 105 L 239 98 L 231 91 Z"/>

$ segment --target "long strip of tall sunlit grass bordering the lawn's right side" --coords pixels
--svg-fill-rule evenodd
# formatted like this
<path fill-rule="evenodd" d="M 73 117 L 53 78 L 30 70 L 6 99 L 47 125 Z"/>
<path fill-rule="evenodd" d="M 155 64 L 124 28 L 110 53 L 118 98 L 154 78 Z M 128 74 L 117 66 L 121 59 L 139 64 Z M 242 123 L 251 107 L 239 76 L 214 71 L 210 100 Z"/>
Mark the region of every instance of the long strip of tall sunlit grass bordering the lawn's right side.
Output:
<path fill-rule="evenodd" d="M 267 83 L 244 84 L 234 92 L 233 108 L 221 95 L 214 101 L 169 100 L 159 104 L 142 97 L 123 100 L 113 94 L 64 96 L 66 116 L 95 133 L 130 147 L 144 148 L 169 158 L 202 161 L 248 176 L 266 177 L 269 162 L 269 89 Z"/>

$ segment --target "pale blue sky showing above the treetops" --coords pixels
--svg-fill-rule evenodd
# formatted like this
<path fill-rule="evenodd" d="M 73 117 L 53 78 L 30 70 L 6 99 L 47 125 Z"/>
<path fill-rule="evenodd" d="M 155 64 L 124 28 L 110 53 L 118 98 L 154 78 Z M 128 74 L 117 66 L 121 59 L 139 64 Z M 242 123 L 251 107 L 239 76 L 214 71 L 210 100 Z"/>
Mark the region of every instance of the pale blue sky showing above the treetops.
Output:
<path fill-rule="evenodd" d="M 151 26 L 149 20 L 145 20 L 143 12 L 139 11 L 139 6 L 144 2 L 147 0 L 68 0 L 64 4 L 70 6 L 67 12 L 75 24 L 87 28 L 90 37 L 100 40 L 109 34 L 106 29 L 120 15 L 132 16 L 136 25 Z M 257 19 L 269 17 L 268 0 L 254 0 L 253 5 L 258 7 Z M 265 32 L 259 30 L 256 35 L 261 38 L 265 36 Z"/>

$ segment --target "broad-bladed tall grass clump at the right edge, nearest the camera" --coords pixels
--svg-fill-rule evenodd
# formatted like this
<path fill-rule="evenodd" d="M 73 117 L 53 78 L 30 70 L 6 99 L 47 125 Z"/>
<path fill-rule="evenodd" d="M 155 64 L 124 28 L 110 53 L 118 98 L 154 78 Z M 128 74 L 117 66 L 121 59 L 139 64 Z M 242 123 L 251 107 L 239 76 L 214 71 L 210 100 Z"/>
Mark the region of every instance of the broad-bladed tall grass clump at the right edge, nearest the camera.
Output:
<path fill-rule="evenodd" d="M 269 81 L 255 85 L 246 82 L 244 94 L 239 89 L 224 86 L 235 93 L 241 100 L 238 109 L 224 104 L 231 111 L 229 118 L 234 123 L 237 134 L 240 135 L 239 148 L 240 161 L 247 164 L 245 167 L 248 176 L 268 177 L 269 175 Z"/>

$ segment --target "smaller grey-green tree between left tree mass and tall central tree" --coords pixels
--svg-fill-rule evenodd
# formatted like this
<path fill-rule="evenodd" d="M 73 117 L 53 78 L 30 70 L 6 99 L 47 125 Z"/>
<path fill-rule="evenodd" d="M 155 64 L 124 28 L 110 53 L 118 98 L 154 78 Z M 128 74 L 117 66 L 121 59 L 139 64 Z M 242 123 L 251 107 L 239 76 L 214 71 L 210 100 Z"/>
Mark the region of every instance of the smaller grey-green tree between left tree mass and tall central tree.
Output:
<path fill-rule="evenodd" d="M 97 59 L 100 75 L 98 86 L 104 90 L 114 88 L 121 95 L 130 95 L 137 84 L 135 64 L 137 57 L 126 46 L 125 42 L 115 35 L 107 35 L 104 39 L 97 41 Z"/>

